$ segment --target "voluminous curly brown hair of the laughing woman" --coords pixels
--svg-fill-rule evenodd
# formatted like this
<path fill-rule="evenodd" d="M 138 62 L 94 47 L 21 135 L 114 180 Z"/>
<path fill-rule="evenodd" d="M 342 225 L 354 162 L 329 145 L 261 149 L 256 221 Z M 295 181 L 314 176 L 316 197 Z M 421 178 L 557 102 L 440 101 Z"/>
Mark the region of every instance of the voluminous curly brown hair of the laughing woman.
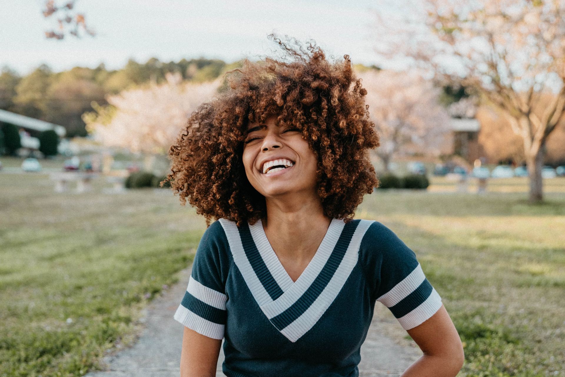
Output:
<path fill-rule="evenodd" d="M 241 226 L 267 214 L 265 198 L 251 186 L 242 162 L 249 122 L 276 115 L 277 124 L 301 129 L 318 158 L 318 194 L 324 214 L 351 221 L 366 193 L 379 180 L 368 149 L 379 146 L 375 124 L 351 67 L 330 63 L 316 43 L 268 36 L 283 50 L 281 59 L 257 63 L 244 59 L 242 68 L 226 73 L 229 88 L 192 113 L 168 152 L 171 173 L 165 181 L 181 204 L 189 198 L 197 213 L 225 218 Z"/>

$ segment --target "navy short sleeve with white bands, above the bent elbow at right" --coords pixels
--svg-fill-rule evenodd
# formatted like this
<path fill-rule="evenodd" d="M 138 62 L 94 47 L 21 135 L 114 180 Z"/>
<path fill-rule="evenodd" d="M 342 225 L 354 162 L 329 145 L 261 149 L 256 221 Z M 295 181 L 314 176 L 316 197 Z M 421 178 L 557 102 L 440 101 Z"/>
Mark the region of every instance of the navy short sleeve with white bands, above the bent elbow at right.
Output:
<path fill-rule="evenodd" d="M 360 248 L 373 299 L 388 307 L 405 330 L 440 309 L 441 297 L 424 275 L 416 254 L 391 229 L 373 223 Z"/>

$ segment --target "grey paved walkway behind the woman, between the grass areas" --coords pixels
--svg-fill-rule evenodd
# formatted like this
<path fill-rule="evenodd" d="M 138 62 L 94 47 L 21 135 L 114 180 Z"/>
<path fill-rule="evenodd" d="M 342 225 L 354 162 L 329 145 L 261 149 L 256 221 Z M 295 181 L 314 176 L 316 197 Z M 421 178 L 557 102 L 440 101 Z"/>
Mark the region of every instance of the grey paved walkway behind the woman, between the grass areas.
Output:
<path fill-rule="evenodd" d="M 179 283 L 155 298 L 147 307 L 144 313 L 145 328 L 138 341 L 131 348 L 106 357 L 107 371 L 90 372 L 86 377 L 180 376 L 182 325 L 172 317 L 184 296 L 190 271 L 191 267 L 181 271 Z M 361 346 L 359 371 L 362 377 L 398 376 L 421 355 L 418 348 L 401 346 L 384 335 L 386 326 L 399 327 L 396 319 L 389 318 L 383 323 L 379 318 L 375 310 L 367 339 Z M 217 377 L 224 376 L 221 372 L 223 361 L 224 353 L 220 350 Z"/>

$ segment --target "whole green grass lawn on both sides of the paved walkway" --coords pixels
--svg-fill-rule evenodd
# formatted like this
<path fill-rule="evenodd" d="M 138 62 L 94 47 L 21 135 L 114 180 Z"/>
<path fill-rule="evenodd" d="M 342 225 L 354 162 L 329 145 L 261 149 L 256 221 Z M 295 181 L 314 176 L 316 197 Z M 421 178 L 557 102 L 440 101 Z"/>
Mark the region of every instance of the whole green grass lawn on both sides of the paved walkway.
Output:
<path fill-rule="evenodd" d="M 565 375 L 565 180 L 552 182 L 537 206 L 525 192 L 441 193 L 449 183 L 432 181 L 359 207 L 418 255 L 464 341 L 460 376 Z M 97 369 L 192 261 L 205 230 L 192 208 L 168 189 L 104 185 L 56 194 L 47 175 L 0 172 L 0 376 Z"/>

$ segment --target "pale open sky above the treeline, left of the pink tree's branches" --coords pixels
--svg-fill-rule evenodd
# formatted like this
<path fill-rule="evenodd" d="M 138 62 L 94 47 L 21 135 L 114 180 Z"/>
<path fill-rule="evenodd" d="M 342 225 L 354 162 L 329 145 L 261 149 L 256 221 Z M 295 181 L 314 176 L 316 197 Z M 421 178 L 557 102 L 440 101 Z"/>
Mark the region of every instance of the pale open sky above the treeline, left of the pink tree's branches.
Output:
<path fill-rule="evenodd" d="M 128 58 L 145 62 L 182 58 L 219 58 L 227 62 L 245 56 L 270 55 L 271 32 L 299 40 L 314 38 L 336 58 L 349 54 L 353 63 L 379 64 L 372 46 L 371 9 L 384 1 L 239 1 L 223 0 L 77 0 L 94 38 L 67 36 L 47 40 L 54 20 L 41 14 L 42 0 L 2 0 L 0 67 L 26 74 L 41 63 L 61 71 L 74 66 L 123 67 Z M 56 2 L 63 4 L 63 0 Z M 386 64 L 381 64 L 386 67 Z"/>

